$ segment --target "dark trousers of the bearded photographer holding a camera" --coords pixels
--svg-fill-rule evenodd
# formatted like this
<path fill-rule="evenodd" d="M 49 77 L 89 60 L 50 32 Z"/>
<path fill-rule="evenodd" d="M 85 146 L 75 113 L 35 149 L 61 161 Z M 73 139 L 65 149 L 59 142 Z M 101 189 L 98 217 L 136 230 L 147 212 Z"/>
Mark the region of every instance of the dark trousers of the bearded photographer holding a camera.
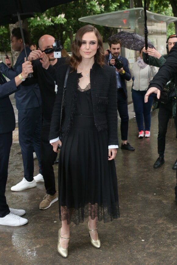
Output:
<path fill-rule="evenodd" d="M 121 118 L 121 139 L 128 139 L 128 104 L 123 88 L 117 89 L 117 110 Z"/>

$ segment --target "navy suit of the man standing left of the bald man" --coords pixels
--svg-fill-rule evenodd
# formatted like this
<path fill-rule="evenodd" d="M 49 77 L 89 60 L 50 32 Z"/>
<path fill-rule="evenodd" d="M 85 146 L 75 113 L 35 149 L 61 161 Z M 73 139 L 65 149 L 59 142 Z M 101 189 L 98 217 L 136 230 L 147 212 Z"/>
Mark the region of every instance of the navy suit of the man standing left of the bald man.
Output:
<path fill-rule="evenodd" d="M 31 50 L 27 49 L 27 56 Z M 17 58 L 14 69 L 9 69 L 3 62 L 0 63 L 0 70 L 9 79 L 22 72 L 22 63 L 24 62 L 25 52 L 21 51 Z M 26 86 L 21 83 L 18 91 L 15 93 L 16 108 L 18 109 L 18 129 L 19 143 L 23 158 L 24 177 L 27 181 L 33 180 L 34 160 L 33 150 L 36 152 L 39 161 L 39 173 L 41 171 L 41 151 L 40 151 L 40 133 L 42 126 L 42 108 L 41 95 L 37 83 Z"/>

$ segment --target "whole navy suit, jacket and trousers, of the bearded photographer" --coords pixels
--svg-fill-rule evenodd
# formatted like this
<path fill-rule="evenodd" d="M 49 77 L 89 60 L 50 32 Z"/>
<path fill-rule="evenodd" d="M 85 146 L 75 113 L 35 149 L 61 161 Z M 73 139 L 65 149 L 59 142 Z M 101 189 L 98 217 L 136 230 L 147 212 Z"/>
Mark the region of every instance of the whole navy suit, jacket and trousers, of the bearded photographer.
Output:
<path fill-rule="evenodd" d="M 123 62 L 124 74 L 119 74 L 121 79 L 122 87 L 117 89 L 117 110 L 121 118 L 121 139 L 127 140 L 128 138 L 128 104 L 127 104 L 127 89 L 125 80 L 131 79 L 131 73 L 128 68 L 128 61 L 126 58 L 119 56 L 119 59 Z M 105 56 L 106 62 L 109 60 L 109 55 Z M 112 66 L 111 66 L 112 67 Z"/>

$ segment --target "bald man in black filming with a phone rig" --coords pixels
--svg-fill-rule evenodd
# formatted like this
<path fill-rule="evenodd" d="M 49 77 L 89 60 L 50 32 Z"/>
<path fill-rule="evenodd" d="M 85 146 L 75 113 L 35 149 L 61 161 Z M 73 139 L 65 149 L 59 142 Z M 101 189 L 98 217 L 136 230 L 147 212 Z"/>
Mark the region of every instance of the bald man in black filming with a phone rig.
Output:
<path fill-rule="evenodd" d="M 42 36 L 38 41 L 38 50 L 31 51 L 28 60 L 33 64 L 33 76 L 35 82 L 38 82 L 42 98 L 42 131 L 41 131 L 41 167 L 42 176 L 36 176 L 35 181 L 44 181 L 46 195 L 39 205 L 41 210 L 45 210 L 52 203 L 58 200 L 53 164 L 57 153 L 53 151 L 49 143 L 50 123 L 53 111 L 53 105 L 56 98 L 56 69 L 59 65 L 65 63 L 66 58 L 54 58 L 53 52 L 45 54 L 46 48 L 52 48 L 55 38 L 50 35 Z"/>

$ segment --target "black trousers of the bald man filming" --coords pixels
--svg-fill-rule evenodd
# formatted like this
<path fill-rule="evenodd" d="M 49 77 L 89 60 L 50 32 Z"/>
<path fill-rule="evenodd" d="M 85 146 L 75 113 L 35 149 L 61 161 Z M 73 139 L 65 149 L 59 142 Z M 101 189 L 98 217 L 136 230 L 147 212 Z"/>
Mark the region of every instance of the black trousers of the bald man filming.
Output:
<path fill-rule="evenodd" d="M 41 168 L 44 178 L 44 184 L 47 194 L 54 195 L 55 175 L 53 164 L 56 160 L 57 153 L 53 151 L 52 145 L 49 143 L 50 126 L 42 126 L 41 130 Z"/>

